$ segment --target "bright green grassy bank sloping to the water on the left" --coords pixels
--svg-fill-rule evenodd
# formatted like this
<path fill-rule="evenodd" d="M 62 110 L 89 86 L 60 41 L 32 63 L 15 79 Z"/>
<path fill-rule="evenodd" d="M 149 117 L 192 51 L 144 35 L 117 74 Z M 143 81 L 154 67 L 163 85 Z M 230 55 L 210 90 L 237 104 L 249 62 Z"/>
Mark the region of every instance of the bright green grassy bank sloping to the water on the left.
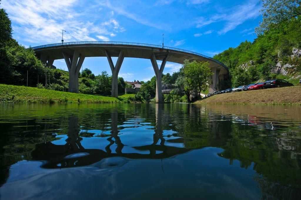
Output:
<path fill-rule="evenodd" d="M 0 103 L 119 103 L 128 97 L 122 95 L 114 98 L 0 84 Z"/>

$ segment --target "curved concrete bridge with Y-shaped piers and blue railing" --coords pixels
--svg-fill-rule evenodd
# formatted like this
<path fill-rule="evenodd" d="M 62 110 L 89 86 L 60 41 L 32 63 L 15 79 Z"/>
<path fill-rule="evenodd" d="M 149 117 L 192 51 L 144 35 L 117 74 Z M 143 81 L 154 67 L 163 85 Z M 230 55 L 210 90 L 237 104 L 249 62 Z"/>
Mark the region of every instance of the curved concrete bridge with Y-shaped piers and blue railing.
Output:
<path fill-rule="evenodd" d="M 54 60 L 65 59 L 69 70 L 69 89 L 68 92 L 78 92 L 78 74 L 85 60 L 85 57 L 107 57 L 112 71 L 112 97 L 118 96 L 118 73 L 123 59 L 146 58 L 150 59 L 157 78 L 156 102 L 162 100 L 162 73 L 168 62 L 183 64 L 185 59 L 190 61 L 208 61 L 209 67 L 214 73 L 209 91 L 213 91 L 219 80 L 224 79 L 228 74 L 228 68 L 221 62 L 208 56 L 195 52 L 163 47 L 159 45 L 149 45 L 132 42 L 67 42 L 33 47 L 37 57 L 47 66 L 51 66 Z M 118 57 L 116 65 L 113 64 L 111 57 Z M 157 60 L 162 61 L 158 66 Z"/>

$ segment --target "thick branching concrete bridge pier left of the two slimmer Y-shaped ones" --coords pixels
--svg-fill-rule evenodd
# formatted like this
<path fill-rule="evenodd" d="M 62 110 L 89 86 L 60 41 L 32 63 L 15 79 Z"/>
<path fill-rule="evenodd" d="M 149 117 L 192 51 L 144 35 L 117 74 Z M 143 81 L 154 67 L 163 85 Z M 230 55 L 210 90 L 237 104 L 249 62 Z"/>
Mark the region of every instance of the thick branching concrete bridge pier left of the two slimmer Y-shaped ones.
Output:
<path fill-rule="evenodd" d="M 78 74 L 85 57 L 77 51 L 73 55 L 62 52 L 69 71 L 68 92 L 78 93 Z"/>

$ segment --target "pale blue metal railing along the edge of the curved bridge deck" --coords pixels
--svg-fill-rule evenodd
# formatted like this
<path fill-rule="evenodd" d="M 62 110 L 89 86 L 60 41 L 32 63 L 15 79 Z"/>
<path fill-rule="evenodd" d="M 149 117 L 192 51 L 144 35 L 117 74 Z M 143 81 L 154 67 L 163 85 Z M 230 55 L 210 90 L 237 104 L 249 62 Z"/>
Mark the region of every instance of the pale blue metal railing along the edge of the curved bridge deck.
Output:
<path fill-rule="evenodd" d="M 145 47 L 154 47 L 154 48 L 163 48 L 163 49 L 169 49 L 169 50 L 174 50 L 174 51 L 179 51 L 179 52 L 185 52 L 185 53 L 190 53 L 198 56 L 202 56 L 204 58 L 208 58 L 212 61 L 215 61 L 224 67 L 226 67 L 224 64 L 222 64 L 220 61 L 211 58 L 209 56 L 199 54 L 196 52 L 188 51 L 185 49 L 180 49 L 180 48 L 174 48 L 174 47 L 168 47 L 168 46 L 160 46 L 160 45 L 151 45 L 151 44 L 144 44 L 144 43 L 136 43 L 136 42 L 111 42 L 111 41 L 85 41 L 85 42 L 65 42 L 65 43 L 55 43 L 55 44 L 48 44 L 48 45 L 41 45 L 41 46 L 35 46 L 31 47 L 33 49 L 39 49 L 39 48 L 46 48 L 46 47 L 55 47 L 55 46 L 67 46 L 67 45 L 84 45 L 84 44 L 104 44 L 104 45 L 131 45 L 131 46 L 145 46 Z M 226 69 L 228 69 L 226 67 Z"/>

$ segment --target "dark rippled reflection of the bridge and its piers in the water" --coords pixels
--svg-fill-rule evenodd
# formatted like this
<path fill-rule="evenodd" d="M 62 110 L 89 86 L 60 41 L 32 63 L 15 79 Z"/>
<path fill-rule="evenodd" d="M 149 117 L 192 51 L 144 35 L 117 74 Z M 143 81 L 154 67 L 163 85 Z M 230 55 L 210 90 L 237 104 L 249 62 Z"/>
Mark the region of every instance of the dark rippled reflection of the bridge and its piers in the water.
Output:
<path fill-rule="evenodd" d="M 123 153 L 124 144 L 119 137 L 119 130 L 117 124 L 118 111 L 117 108 L 111 114 L 111 131 L 110 137 L 107 138 L 109 144 L 105 147 L 105 151 L 101 149 L 85 149 L 79 136 L 80 129 L 77 117 L 69 117 L 68 123 L 68 138 L 65 140 L 65 145 L 55 145 L 51 142 L 41 143 L 36 145 L 36 149 L 32 152 L 32 159 L 43 161 L 42 167 L 45 168 L 62 168 L 62 167 L 79 167 L 79 166 L 97 166 L 97 167 L 117 167 L 123 165 L 125 160 L 131 159 L 165 159 L 178 154 L 183 154 L 191 149 L 180 148 L 165 145 L 162 130 L 162 104 L 156 104 L 156 127 L 154 130 L 153 141 L 150 145 L 133 147 L 135 152 Z M 158 142 L 160 141 L 160 144 Z M 183 142 L 183 140 L 175 139 L 173 142 Z M 112 152 L 111 146 L 116 144 L 115 153 Z M 139 153 L 149 151 L 149 154 Z M 101 164 L 101 161 L 106 158 L 107 163 Z M 123 159 L 122 159 L 122 158 Z M 119 161 L 118 161 L 119 160 Z"/>

